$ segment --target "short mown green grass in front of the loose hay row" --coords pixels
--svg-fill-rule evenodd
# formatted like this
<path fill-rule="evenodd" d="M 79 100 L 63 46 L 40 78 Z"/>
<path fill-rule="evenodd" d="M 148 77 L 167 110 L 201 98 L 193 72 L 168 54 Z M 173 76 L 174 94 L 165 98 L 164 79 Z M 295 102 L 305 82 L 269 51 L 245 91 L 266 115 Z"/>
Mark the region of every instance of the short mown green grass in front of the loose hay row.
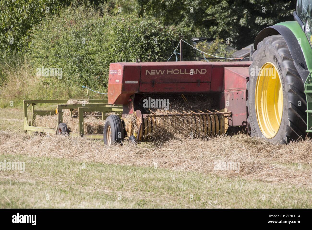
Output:
<path fill-rule="evenodd" d="M 3 208 L 311 208 L 311 190 L 153 167 L 0 154 Z"/>

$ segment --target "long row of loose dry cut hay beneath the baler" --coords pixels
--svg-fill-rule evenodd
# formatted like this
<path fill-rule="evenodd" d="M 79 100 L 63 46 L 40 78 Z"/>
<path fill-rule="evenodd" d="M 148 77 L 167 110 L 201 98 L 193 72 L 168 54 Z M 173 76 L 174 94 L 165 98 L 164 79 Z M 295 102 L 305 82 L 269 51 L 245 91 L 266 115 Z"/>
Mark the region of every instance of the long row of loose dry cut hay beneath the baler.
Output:
<path fill-rule="evenodd" d="M 105 146 L 71 136 L 41 137 L 0 131 L 0 148 L 10 154 L 66 157 L 79 161 L 212 173 L 239 179 L 312 187 L 312 142 L 272 145 L 238 134 L 208 140 L 183 139 L 153 146 Z M 244 189 L 244 188 L 242 188 Z"/>

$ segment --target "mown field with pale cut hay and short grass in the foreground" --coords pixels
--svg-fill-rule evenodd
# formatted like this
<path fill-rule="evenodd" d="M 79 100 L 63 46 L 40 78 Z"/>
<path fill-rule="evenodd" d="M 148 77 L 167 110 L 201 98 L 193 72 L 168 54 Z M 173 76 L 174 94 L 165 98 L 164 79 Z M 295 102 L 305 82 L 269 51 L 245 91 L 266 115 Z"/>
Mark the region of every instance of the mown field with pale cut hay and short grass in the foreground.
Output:
<path fill-rule="evenodd" d="M 104 146 L 102 141 L 23 132 L 22 108 L 0 110 L 0 206 L 311 208 L 312 143 L 273 146 L 244 134 L 161 145 Z M 218 161 L 239 171 L 216 170 Z"/>

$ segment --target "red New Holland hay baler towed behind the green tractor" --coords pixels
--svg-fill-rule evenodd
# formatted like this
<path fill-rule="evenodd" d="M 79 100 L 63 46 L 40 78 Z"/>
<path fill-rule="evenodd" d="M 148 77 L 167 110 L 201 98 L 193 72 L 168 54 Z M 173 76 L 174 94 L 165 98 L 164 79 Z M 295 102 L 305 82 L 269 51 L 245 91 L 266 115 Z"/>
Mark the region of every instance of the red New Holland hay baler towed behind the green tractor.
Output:
<path fill-rule="evenodd" d="M 153 125 L 156 125 L 154 117 L 157 116 L 151 114 L 149 108 L 142 106 L 142 98 L 147 96 L 160 99 L 170 95 L 170 97 L 185 99 L 187 103 L 188 95 L 208 95 L 213 98 L 218 107 L 214 112 L 192 110 L 189 113 L 175 112 L 175 115 L 166 116 L 198 116 L 204 121 L 205 130 L 207 127 L 212 129 L 213 125 L 216 126 L 217 121 L 212 122 L 212 120 L 213 117 L 219 117 L 217 120 L 220 127 L 214 127 L 214 130 L 219 132 L 215 134 L 225 133 L 227 127 L 247 126 L 246 83 L 249 79 L 250 65 L 251 62 L 111 63 L 108 103 L 123 105 L 123 115 L 120 121 L 116 118 L 117 121 L 108 120 L 110 124 L 105 126 L 107 126 L 106 131 L 110 129 L 108 130 L 110 133 L 106 133 L 106 136 L 119 133 L 119 136 L 122 135 L 121 138 L 112 138 L 112 136 L 108 138 L 117 142 L 130 136 L 132 141 L 146 140 L 146 136 L 149 136 L 148 132 L 153 129 Z M 137 132 L 133 129 L 131 121 L 127 119 L 127 115 L 131 114 L 136 116 L 139 127 Z M 115 134 L 112 134 L 112 126 L 116 122 L 120 124 L 117 125 Z M 110 144 L 107 140 L 106 142 Z"/>

